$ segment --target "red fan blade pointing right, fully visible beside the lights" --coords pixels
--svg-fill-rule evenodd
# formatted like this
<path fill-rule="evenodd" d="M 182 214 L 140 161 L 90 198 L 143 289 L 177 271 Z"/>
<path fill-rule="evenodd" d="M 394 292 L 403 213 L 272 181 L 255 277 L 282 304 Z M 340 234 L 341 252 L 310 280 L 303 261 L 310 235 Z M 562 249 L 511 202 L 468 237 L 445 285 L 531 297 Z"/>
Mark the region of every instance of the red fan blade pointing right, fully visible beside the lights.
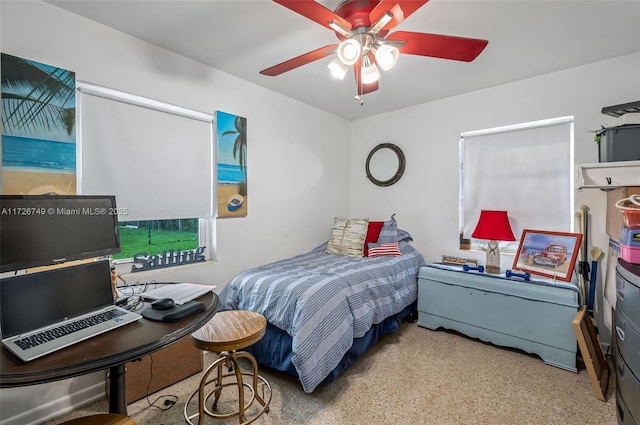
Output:
<path fill-rule="evenodd" d="M 487 40 L 477 38 L 410 31 L 396 31 L 389 34 L 387 39 L 403 40 L 405 45 L 398 48 L 401 53 L 463 62 L 474 60 L 489 43 Z"/>

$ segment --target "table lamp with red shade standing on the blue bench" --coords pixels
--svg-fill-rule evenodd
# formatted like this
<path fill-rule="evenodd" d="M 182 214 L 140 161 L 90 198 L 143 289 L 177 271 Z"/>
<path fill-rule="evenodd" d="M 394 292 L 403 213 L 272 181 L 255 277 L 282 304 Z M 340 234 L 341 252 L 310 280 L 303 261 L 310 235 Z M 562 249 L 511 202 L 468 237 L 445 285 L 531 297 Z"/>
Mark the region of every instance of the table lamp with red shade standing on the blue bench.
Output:
<path fill-rule="evenodd" d="M 489 241 L 487 246 L 487 263 L 485 270 L 487 273 L 500 273 L 500 250 L 498 241 L 515 241 L 509 225 L 509 216 L 506 211 L 480 211 L 480 218 L 476 229 L 471 234 L 472 238 L 485 239 Z"/>

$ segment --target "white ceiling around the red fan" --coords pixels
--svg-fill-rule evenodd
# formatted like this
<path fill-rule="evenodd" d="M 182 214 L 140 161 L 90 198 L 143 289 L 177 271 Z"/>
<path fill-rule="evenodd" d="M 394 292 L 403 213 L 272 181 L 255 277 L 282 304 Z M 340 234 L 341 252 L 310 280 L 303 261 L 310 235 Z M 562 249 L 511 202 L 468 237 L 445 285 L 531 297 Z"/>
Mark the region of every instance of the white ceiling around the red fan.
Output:
<path fill-rule="evenodd" d="M 353 72 L 332 78 L 331 58 L 259 74 L 338 41 L 271 0 L 46 1 L 349 120 L 640 51 L 640 0 L 431 0 L 394 30 L 481 38 L 487 48 L 470 63 L 401 55 L 360 105 Z M 339 0 L 318 2 L 333 10 Z"/>

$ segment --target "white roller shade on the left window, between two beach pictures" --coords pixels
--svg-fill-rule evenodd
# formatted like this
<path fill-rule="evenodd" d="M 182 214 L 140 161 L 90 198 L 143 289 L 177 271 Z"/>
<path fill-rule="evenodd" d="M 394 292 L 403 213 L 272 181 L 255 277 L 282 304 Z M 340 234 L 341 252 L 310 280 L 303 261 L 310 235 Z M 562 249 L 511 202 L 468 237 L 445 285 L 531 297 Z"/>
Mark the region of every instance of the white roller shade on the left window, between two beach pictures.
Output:
<path fill-rule="evenodd" d="M 213 116 L 79 83 L 82 194 L 114 194 L 120 221 L 213 214 Z"/>

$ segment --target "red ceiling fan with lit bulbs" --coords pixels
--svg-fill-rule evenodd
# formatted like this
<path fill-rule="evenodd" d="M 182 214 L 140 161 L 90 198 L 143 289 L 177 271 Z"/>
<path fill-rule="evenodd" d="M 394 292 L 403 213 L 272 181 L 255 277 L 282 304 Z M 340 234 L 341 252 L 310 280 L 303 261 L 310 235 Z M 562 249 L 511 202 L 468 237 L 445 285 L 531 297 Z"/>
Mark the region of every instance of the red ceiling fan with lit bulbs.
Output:
<path fill-rule="evenodd" d="M 378 90 L 380 71 L 396 63 L 400 53 L 471 62 L 487 46 L 487 40 L 411 31 L 389 33 L 429 0 L 343 0 L 331 11 L 314 0 L 273 0 L 333 30 L 340 41 L 320 47 L 260 71 L 276 76 L 336 54 L 329 63 L 334 77 L 343 79 L 352 66 L 356 99 Z"/>

